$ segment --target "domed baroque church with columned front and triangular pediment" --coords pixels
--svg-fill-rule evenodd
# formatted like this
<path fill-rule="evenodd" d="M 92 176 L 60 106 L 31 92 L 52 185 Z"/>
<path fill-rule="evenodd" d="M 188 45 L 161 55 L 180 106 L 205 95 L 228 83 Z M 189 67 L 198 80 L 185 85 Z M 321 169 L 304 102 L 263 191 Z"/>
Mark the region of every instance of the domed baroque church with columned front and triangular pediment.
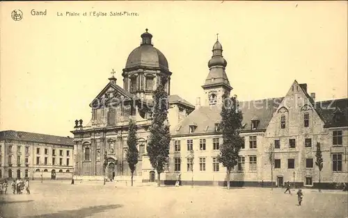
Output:
<path fill-rule="evenodd" d="M 152 35 L 141 35 L 141 45 L 128 56 L 123 81 L 114 76 L 90 103 L 92 117 L 88 124 L 78 124 L 74 131 L 74 178 L 127 180 L 131 175 L 125 155 L 129 119 L 137 125 L 139 162 L 134 176 L 137 181 L 155 181 L 155 171 L 146 153 L 152 120 L 152 96 L 166 77 L 168 121 L 173 126 L 194 110 L 194 106 L 178 95 L 171 95 L 171 74 L 168 61 L 152 44 Z M 122 87 L 120 86 L 122 85 Z M 106 167 L 104 169 L 104 162 Z"/>

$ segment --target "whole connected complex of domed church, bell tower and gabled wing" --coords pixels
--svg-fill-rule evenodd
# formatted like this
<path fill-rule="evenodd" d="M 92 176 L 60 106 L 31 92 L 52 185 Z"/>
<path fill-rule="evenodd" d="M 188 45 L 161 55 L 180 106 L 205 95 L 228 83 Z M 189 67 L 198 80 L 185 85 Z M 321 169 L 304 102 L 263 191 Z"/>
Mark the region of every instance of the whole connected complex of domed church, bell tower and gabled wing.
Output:
<path fill-rule="evenodd" d="M 89 123 L 82 126 L 77 121 L 72 131 L 74 178 L 93 180 L 106 175 L 118 181 L 130 180 L 125 153 L 127 125 L 132 118 L 138 126 L 135 180 L 155 182 L 156 171 L 146 155 L 146 144 L 152 96 L 161 76 L 165 76 L 172 139 L 161 183 L 173 185 L 180 179 L 181 185 L 226 186 L 226 169 L 217 161 L 222 144 L 218 124 L 223 93 L 232 94 L 232 86 L 221 42 L 216 40 L 207 63 L 207 78 L 201 86 L 205 97 L 197 99 L 193 106 L 171 94 L 172 72 L 164 54 L 153 46 L 148 29 L 141 40 L 141 45 L 127 58 L 123 87 L 111 76 L 90 103 Z M 239 134 L 244 138 L 244 146 L 230 175 L 230 185 L 282 187 L 290 181 L 294 187 L 332 188 L 347 182 L 348 99 L 316 101 L 315 92 L 308 90 L 306 83 L 294 80 L 284 97 L 239 100 L 243 113 Z M 318 143 L 324 160 L 320 178 L 315 165 Z"/>

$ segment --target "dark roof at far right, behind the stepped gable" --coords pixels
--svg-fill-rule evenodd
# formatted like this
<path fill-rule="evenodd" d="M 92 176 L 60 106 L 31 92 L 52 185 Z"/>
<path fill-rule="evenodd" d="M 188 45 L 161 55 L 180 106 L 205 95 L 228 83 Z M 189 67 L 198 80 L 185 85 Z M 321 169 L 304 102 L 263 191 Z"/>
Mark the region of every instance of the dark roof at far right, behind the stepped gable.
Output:
<path fill-rule="evenodd" d="M 325 127 L 348 126 L 348 99 L 332 99 L 315 102 L 315 110 L 322 117 Z M 335 120 L 339 115 L 340 119 Z"/>

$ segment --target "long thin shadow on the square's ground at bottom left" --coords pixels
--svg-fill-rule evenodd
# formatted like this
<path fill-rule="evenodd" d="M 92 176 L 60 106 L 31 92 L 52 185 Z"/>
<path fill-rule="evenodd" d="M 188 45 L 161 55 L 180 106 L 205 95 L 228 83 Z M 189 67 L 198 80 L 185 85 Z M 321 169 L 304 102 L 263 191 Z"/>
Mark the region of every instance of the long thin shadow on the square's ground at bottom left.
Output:
<path fill-rule="evenodd" d="M 106 210 L 121 208 L 122 205 L 120 204 L 111 204 L 111 205 L 101 205 L 101 206 L 91 206 L 88 208 L 80 208 L 77 210 L 61 210 L 58 212 L 54 212 L 47 215 L 36 215 L 36 216 L 29 216 L 26 218 L 56 218 L 56 217 L 62 217 L 62 218 L 82 218 L 82 217 L 90 217 L 93 214 L 96 214 L 98 212 L 104 212 Z"/>

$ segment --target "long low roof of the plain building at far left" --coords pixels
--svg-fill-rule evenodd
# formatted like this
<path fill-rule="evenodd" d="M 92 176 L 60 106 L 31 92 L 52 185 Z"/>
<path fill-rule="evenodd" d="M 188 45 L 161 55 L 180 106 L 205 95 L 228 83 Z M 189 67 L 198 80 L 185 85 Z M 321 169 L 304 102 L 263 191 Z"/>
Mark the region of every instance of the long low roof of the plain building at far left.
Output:
<path fill-rule="evenodd" d="M 45 135 L 40 133 L 29 133 L 22 131 L 1 131 L 0 140 L 18 140 L 25 142 L 39 142 L 46 144 L 61 144 L 73 146 L 72 137 L 63 137 L 57 135 Z"/>

